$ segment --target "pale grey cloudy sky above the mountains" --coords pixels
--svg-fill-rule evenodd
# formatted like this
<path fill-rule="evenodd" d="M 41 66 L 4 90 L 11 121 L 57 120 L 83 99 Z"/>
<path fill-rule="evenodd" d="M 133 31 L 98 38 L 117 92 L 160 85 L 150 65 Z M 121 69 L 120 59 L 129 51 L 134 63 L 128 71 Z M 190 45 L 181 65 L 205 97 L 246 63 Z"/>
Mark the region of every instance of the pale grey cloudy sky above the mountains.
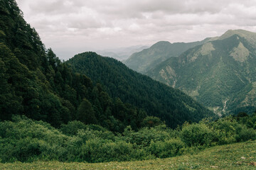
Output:
<path fill-rule="evenodd" d="M 60 59 L 160 40 L 192 42 L 229 29 L 256 32 L 256 0 L 16 0 Z"/>

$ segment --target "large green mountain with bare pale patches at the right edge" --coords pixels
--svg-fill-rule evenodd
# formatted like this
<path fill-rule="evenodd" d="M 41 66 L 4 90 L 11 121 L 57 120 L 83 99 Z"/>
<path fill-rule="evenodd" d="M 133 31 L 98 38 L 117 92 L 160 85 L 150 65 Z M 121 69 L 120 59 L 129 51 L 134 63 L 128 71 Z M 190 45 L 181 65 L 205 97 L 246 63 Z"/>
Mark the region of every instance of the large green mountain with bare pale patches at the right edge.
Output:
<path fill-rule="evenodd" d="M 146 74 L 181 89 L 215 113 L 252 113 L 256 103 L 255 45 L 256 33 L 228 30 Z"/>

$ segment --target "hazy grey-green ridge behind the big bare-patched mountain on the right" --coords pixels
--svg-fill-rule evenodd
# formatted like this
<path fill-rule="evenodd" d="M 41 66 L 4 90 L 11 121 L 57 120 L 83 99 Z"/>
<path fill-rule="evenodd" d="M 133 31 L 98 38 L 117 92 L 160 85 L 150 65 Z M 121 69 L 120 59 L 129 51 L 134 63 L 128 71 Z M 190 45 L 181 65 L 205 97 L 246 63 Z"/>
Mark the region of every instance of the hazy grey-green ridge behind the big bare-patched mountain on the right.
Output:
<path fill-rule="evenodd" d="M 156 64 L 164 62 L 164 60 L 167 60 L 170 57 L 177 57 L 189 48 L 195 47 L 196 45 L 201 45 L 208 40 L 209 38 L 198 42 L 176 42 L 173 44 L 168 41 L 156 42 L 156 44 L 152 45 L 151 47 L 144 49 L 141 52 L 135 52 L 132 54 L 127 60 L 124 61 L 124 64 L 137 72 L 146 73 Z"/>

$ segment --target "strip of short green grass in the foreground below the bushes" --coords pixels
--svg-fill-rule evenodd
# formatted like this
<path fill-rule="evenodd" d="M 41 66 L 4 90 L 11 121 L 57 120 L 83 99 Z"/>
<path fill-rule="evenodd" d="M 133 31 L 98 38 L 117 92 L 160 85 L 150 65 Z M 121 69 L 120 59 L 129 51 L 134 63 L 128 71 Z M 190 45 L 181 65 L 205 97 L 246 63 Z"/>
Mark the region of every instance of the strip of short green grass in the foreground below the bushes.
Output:
<path fill-rule="evenodd" d="M 256 169 L 256 141 L 223 145 L 168 159 L 98 164 L 33 162 L 0 164 L 0 169 Z"/>

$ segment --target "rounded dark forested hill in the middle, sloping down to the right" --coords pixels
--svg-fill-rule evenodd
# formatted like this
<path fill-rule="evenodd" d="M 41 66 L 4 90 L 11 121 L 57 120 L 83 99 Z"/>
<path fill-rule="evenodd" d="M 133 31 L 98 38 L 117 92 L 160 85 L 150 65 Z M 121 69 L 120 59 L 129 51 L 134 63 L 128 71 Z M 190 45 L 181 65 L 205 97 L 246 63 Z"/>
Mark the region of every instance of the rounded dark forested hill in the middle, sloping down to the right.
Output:
<path fill-rule="evenodd" d="M 173 89 L 149 77 L 134 72 L 122 62 L 101 57 L 95 52 L 75 55 L 67 63 L 92 81 L 100 82 L 112 98 L 120 98 L 148 115 L 154 115 L 172 128 L 184 121 L 198 121 L 213 115 L 206 108 L 178 89 Z"/>

